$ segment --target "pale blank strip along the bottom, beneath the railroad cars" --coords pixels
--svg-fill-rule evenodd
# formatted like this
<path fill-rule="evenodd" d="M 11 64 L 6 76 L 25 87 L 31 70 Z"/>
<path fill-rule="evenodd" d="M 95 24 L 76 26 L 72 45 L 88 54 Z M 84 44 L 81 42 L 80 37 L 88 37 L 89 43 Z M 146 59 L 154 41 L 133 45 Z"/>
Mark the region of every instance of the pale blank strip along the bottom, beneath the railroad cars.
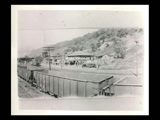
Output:
<path fill-rule="evenodd" d="M 20 110 L 143 110 L 141 97 L 19 100 Z"/>

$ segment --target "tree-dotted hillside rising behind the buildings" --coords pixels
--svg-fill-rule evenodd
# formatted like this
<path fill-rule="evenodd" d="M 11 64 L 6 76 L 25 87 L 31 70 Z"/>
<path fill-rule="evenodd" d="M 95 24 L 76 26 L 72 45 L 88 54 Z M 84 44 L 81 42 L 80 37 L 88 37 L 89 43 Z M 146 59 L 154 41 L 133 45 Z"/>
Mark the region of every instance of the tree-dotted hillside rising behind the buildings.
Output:
<path fill-rule="evenodd" d="M 135 41 L 138 41 L 136 46 Z M 117 48 L 123 48 L 125 59 L 118 63 L 130 62 L 135 65 L 135 53 L 138 52 L 138 59 L 143 59 L 143 29 L 142 28 L 108 28 L 100 29 L 93 33 L 74 38 L 69 41 L 60 42 L 54 45 L 51 54 L 69 54 L 74 51 L 86 51 L 94 54 L 111 54 Z M 30 55 L 41 54 L 42 48 L 30 51 Z M 131 63 L 132 61 L 132 63 Z M 115 62 L 116 63 L 116 62 Z"/>

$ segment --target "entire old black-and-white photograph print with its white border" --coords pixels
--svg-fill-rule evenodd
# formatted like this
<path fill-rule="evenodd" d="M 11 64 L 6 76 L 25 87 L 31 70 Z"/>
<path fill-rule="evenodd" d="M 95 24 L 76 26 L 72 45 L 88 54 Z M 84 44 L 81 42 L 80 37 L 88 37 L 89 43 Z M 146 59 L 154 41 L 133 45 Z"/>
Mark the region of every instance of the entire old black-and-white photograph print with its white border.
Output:
<path fill-rule="evenodd" d="M 147 11 L 58 6 L 12 5 L 13 111 L 144 111 Z"/>

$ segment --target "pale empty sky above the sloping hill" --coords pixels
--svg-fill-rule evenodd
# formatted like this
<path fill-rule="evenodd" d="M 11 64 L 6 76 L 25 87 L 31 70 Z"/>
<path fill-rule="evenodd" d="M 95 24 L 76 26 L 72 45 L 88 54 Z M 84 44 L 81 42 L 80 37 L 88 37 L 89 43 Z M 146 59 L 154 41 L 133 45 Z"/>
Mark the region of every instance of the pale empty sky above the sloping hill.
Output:
<path fill-rule="evenodd" d="M 19 10 L 18 53 L 71 40 L 104 27 L 144 27 L 138 11 Z"/>

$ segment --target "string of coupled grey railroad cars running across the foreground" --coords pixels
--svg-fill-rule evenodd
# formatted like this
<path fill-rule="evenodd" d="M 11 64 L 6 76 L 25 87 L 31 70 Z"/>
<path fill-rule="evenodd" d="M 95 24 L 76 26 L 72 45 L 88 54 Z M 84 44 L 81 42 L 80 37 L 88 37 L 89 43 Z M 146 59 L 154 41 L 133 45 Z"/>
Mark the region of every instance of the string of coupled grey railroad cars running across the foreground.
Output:
<path fill-rule="evenodd" d="M 124 94 L 142 95 L 140 78 L 126 78 L 115 82 L 113 76 L 104 74 L 81 74 L 64 71 L 45 71 L 44 69 L 31 69 L 18 67 L 18 76 L 38 90 L 57 97 L 93 97 L 106 94 L 109 88 L 110 95 Z M 127 93 L 128 92 L 128 93 Z"/>

